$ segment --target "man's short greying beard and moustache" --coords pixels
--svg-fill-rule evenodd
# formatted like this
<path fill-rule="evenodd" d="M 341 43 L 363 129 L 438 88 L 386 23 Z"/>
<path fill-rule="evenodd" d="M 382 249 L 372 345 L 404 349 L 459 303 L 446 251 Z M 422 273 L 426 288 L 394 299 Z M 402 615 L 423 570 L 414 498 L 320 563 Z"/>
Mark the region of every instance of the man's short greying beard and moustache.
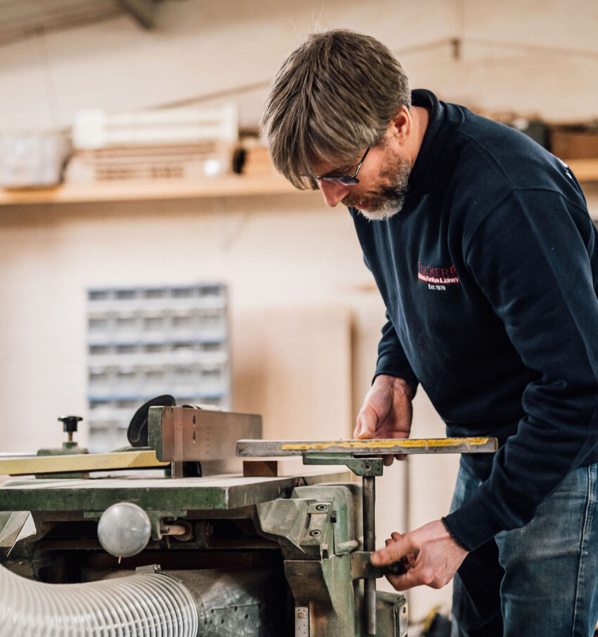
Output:
<path fill-rule="evenodd" d="M 345 197 L 345 206 L 355 206 L 357 203 L 369 200 L 367 208 L 357 208 L 366 219 L 370 221 L 383 221 L 390 219 L 402 210 L 405 203 L 405 192 L 409 182 L 409 172 L 411 165 L 407 160 L 400 158 L 395 163 L 388 161 L 384 164 L 381 172 L 381 182 L 383 185 L 378 191 L 370 196 L 361 196 L 358 200 L 355 197 Z"/>

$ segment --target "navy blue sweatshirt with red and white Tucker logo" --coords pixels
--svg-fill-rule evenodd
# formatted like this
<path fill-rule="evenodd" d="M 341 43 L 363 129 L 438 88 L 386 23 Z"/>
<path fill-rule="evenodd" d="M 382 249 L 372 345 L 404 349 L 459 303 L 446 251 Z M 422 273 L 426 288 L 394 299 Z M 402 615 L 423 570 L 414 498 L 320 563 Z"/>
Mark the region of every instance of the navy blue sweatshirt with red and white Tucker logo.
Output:
<path fill-rule="evenodd" d="M 598 460 L 597 230 L 566 165 L 524 134 L 413 92 L 430 110 L 405 206 L 350 213 L 386 303 L 376 375 L 420 383 L 483 485 L 445 518 L 473 550 L 523 526 Z"/>

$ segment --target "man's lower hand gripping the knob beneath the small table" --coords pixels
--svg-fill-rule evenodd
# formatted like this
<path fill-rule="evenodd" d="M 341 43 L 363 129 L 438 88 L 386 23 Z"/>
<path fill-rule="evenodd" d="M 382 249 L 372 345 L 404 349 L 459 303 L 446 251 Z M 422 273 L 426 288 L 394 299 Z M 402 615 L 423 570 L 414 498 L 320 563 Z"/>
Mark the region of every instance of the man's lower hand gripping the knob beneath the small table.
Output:
<path fill-rule="evenodd" d="M 390 575 L 397 591 L 425 584 L 431 588 L 442 588 L 448 584 L 465 559 L 467 551 L 449 535 L 440 520 L 420 526 L 411 533 L 393 533 L 386 540 L 386 548 L 371 555 L 374 566 L 386 566 L 402 562 L 407 572 Z"/>

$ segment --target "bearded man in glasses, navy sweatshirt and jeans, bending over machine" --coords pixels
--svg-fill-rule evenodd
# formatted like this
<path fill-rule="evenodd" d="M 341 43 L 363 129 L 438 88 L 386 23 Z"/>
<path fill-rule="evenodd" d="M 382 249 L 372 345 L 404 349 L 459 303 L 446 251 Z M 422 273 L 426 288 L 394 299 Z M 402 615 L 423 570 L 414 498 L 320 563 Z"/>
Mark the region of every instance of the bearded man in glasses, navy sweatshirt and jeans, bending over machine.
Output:
<path fill-rule="evenodd" d="M 584 636 L 598 617 L 598 251 L 578 182 L 520 132 L 409 91 L 375 39 L 314 34 L 262 129 L 298 188 L 348 206 L 387 309 L 355 436 L 405 438 L 417 384 L 463 455 L 451 512 L 372 556 L 454 580 L 453 635 Z"/>

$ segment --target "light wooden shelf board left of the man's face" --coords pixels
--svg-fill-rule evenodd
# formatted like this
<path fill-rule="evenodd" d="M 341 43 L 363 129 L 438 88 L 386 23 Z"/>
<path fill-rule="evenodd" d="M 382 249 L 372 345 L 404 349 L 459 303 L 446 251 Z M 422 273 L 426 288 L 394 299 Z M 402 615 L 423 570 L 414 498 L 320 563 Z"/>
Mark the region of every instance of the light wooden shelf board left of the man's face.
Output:
<path fill-rule="evenodd" d="M 44 189 L 0 189 L 0 206 L 33 203 L 83 203 L 91 201 L 145 201 L 148 199 L 189 199 L 298 192 L 279 175 L 226 175 L 190 182 L 181 179 L 63 184 Z"/>

